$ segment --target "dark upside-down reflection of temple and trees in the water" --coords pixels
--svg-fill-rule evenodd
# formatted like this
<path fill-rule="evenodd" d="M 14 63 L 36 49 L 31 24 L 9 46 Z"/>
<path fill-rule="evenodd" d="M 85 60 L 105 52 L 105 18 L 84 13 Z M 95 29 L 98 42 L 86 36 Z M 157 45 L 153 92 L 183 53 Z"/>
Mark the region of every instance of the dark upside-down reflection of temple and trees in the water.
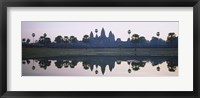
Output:
<path fill-rule="evenodd" d="M 34 62 L 31 63 L 30 60 Z M 35 66 L 39 66 L 46 70 L 49 66 L 55 66 L 57 69 L 73 68 L 76 69 L 78 63 L 82 65 L 84 70 L 89 70 L 95 74 L 99 72 L 104 75 L 106 71 L 112 72 L 115 66 L 125 66 L 122 62 L 126 62 L 127 72 L 140 71 L 146 63 L 150 63 L 155 67 L 155 71 L 161 70 L 162 63 L 167 64 L 169 72 L 175 72 L 178 67 L 178 57 L 139 57 L 139 56 L 67 56 L 67 57 L 51 57 L 51 58 L 34 58 L 23 59 L 22 64 L 32 65 L 32 70 Z M 108 66 L 108 70 L 106 67 Z"/>

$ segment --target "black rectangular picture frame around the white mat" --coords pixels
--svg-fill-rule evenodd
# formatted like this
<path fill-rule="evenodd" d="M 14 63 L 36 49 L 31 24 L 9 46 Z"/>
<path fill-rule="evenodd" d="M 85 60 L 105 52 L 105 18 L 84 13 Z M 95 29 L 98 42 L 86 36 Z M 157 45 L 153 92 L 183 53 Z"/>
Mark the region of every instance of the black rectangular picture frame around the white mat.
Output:
<path fill-rule="evenodd" d="M 7 91 L 7 7 L 193 7 L 193 91 Z M 0 96 L 35 97 L 123 97 L 199 98 L 200 0 L 1 0 L 0 1 Z"/>

